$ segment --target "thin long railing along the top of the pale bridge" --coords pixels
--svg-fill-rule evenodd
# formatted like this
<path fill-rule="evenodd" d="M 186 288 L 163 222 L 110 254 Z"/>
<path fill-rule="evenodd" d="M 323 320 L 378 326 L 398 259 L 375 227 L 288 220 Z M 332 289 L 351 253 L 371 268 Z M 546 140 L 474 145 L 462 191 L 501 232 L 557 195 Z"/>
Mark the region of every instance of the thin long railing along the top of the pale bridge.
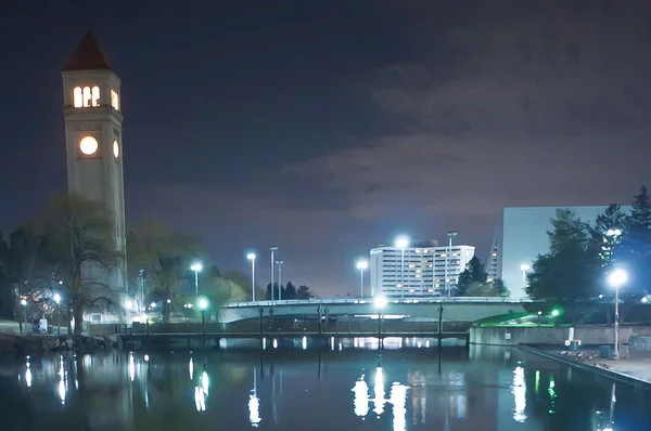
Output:
<path fill-rule="evenodd" d="M 237 309 L 243 306 L 278 306 L 278 305 L 320 305 L 320 304 L 366 304 L 373 303 L 373 298 L 368 299 L 355 299 L 355 298 L 312 298 L 312 299 L 283 299 L 283 300 L 265 300 L 265 301 L 248 301 L 248 302 L 238 302 L 233 304 L 222 305 L 225 309 Z M 392 299 L 387 298 L 387 303 L 532 303 L 536 302 L 529 298 L 496 298 L 496 297 L 451 297 L 451 298 L 408 298 L 408 299 Z"/>

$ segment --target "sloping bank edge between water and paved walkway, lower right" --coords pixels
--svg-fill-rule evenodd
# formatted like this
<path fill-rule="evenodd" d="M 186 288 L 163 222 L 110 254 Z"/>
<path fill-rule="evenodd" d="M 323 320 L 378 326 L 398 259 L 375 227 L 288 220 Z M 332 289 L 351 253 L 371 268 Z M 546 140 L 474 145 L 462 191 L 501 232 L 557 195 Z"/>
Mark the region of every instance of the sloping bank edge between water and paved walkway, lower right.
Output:
<path fill-rule="evenodd" d="M 602 366 L 597 366 L 597 365 L 592 365 L 589 363 L 576 361 L 571 355 L 561 355 L 560 352 L 566 352 L 565 350 L 540 349 L 540 348 L 537 348 L 537 347 L 531 345 L 531 344 L 518 344 L 518 349 L 520 349 L 524 352 L 533 353 L 535 355 L 545 357 L 550 361 L 559 362 L 559 363 L 567 365 L 572 368 L 592 373 L 592 374 L 599 375 L 601 377 L 609 378 L 611 380 L 616 380 L 620 382 L 630 384 L 636 389 L 641 389 L 641 390 L 651 392 L 651 368 L 649 368 L 650 377 L 648 379 L 644 379 L 644 378 L 633 376 L 630 374 L 627 374 L 627 373 L 624 373 L 624 371 L 621 371 L 617 369 L 604 368 Z M 628 360 L 628 358 L 621 358 L 618 361 L 609 361 L 609 360 L 602 360 L 602 361 L 608 361 L 609 363 L 630 362 L 630 360 Z"/>

